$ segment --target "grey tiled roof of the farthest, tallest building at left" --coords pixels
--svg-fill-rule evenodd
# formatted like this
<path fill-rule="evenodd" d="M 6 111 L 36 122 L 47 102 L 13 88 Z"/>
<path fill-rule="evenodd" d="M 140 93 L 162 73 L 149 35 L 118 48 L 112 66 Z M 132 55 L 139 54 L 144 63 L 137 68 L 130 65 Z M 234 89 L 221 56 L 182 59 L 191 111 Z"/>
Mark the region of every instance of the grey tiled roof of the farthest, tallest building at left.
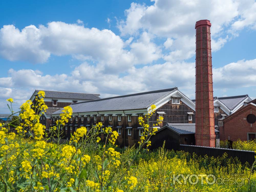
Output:
<path fill-rule="evenodd" d="M 39 91 L 44 91 L 45 97 L 48 97 L 48 98 L 88 99 L 88 100 L 100 99 L 99 97 L 100 94 L 36 90 L 36 92 L 39 92 Z"/>

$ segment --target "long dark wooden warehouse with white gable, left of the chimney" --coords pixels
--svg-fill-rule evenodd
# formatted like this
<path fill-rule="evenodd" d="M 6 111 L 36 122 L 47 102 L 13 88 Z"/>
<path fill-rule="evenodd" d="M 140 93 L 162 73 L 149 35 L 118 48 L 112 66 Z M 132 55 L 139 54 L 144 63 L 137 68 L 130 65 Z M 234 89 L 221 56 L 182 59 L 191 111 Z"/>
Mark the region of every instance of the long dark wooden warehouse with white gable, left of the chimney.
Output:
<path fill-rule="evenodd" d="M 195 123 L 195 103 L 178 90 L 171 89 L 149 91 L 118 97 L 99 99 L 71 104 L 73 116 L 62 128 L 65 139 L 70 139 L 81 126 L 89 131 L 97 123 L 112 127 L 119 137 L 116 143 L 121 147 L 137 145 L 143 128 L 138 123 L 138 117 L 146 115 L 151 105 L 156 105 L 156 112 L 148 122 L 150 127 L 162 116 L 164 120 L 156 127 L 161 129 L 169 123 Z M 52 124 L 60 118 L 62 110 L 52 114 Z M 111 133 L 110 133 L 111 134 Z M 104 139 L 104 134 L 100 135 Z M 164 140 L 159 142 L 163 143 Z"/>

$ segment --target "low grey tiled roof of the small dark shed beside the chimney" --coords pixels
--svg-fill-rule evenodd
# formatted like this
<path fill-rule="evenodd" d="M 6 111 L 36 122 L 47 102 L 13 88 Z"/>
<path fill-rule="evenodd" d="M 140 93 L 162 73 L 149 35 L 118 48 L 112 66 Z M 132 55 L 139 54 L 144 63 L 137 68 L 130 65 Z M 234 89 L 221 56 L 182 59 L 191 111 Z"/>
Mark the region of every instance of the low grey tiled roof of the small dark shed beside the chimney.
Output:
<path fill-rule="evenodd" d="M 195 134 L 196 132 L 195 123 L 167 123 L 166 126 L 181 135 Z M 215 132 L 219 132 L 219 131 L 215 130 Z"/>

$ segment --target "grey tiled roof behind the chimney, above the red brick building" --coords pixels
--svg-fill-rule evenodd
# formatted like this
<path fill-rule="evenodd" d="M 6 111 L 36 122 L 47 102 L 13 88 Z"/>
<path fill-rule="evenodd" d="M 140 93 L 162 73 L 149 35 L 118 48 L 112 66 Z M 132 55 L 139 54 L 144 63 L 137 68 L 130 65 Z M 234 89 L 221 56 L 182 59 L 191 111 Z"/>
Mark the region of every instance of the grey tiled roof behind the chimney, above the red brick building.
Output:
<path fill-rule="evenodd" d="M 237 95 L 231 97 L 214 97 L 215 99 L 219 99 L 224 105 L 229 108 L 229 110 L 233 110 L 242 100 L 244 100 L 248 95 Z M 192 99 L 194 103 L 196 103 L 195 99 Z"/>

